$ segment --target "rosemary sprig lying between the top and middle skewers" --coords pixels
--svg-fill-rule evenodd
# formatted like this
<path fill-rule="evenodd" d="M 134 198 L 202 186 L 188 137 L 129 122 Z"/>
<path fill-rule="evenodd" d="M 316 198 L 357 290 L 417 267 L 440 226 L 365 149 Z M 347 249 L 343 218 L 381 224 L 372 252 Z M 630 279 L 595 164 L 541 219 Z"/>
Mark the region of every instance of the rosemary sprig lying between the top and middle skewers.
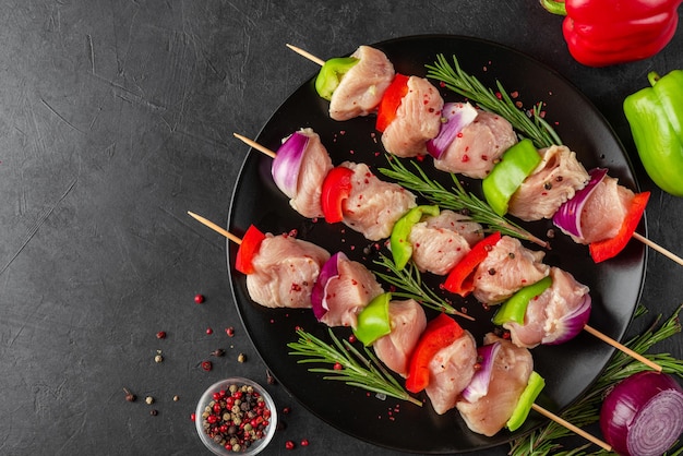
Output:
<path fill-rule="evenodd" d="M 453 187 L 448 190 L 440 182 L 430 179 L 415 161 L 410 163 L 416 172 L 410 171 L 402 160 L 387 157 L 387 163 L 391 169 L 380 168 L 380 172 L 394 179 L 400 187 L 418 192 L 441 208 L 465 211 L 472 220 L 489 226 L 491 231 L 501 231 L 503 235 L 531 241 L 543 248 L 548 247 L 548 242 L 495 214 L 487 203 L 474 193 L 467 192 L 454 175 L 451 175 Z"/>

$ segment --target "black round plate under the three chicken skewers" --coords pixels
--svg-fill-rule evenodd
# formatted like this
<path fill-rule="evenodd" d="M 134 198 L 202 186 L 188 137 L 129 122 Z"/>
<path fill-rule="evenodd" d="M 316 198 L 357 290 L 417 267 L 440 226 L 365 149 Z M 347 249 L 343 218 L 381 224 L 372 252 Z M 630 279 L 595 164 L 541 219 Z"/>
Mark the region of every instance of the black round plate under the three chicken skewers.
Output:
<path fill-rule="evenodd" d="M 386 52 L 396 71 L 404 74 L 423 76 L 424 65 L 433 63 L 439 53 L 447 59 L 455 56 L 462 68 L 480 79 L 487 87 L 495 87 L 495 81 L 501 81 L 505 89 L 515 93 L 516 100 L 527 109 L 538 101 L 546 103 L 546 120 L 577 153 L 586 169 L 607 167 L 610 176 L 618 177 L 622 184 L 631 189 L 637 187 L 631 164 L 604 118 L 565 79 L 532 58 L 493 43 L 459 36 L 414 36 L 373 46 Z M 292 55 L 292 59 L 297 58 Z M 446 100 L 460 99 L 445 88 L 441 92 Z M 379 133 L 374 130 L 374 117 L 346 122 L 331 120 L 327 103 L 315 94 L 313 79 L 291 94 L 256 140 L 271 149 L 277 149 L 284 136 L 304 127 L 321 135 L 333 164 L 363 161 L 371 165 L 380 178 L 386 179 L 378 171 L 378 168 L 386 167 L 386 158 Z M 324 220 L 309 220 L 297 214 L 273 183 L 271 163 L 271 158 L 256 151 L 247 156 L 235 189 L 228 229 L 238 236 L 251 224 L 262 231 L 274 233 L 296 230 L 300 238 L 322 245 L 331 253 L 343 250 L 351 259 L 362 261 L 372 268 L 372 260 L 376 259 L 374 245 L 342 224 L 328 225 Z M 430 158 L 422 161 L 422 168 L 432 178 L 447 184 L 450 177 L 434 170 Z M 474 192 L 479 191 L 478 184 L 468 183 Z M 540 221 L 526 227 L 546 238 L 552 224 Z M 591 289 L 594 307 L 590 325 L 613 338 L 621 338 L 640 295 L 645 276 L 644 247 L 631 242 L 616 259 L 595 264 L 586 247 L 575 244 L 559 231 L 551 245 L 544 262 L 571 272 Z M 529 248 L 538 249 L 536 245 Z M 321 374 L 308 372 L 311 364 L 297 363 L 299 359 L 288 355 L 287 344 L 297 339 L 295 331 L 298 326 L 328 340 L 327 328 L 317 323 L 309 310 L 272 310 L 251 301 L 244 277 L 232 269 L 237 247 L 228 243 L 227 251 L 235 301 L 263 360 L 292 396 L 343 432 L 404 452 L 443 454 L 500 445 L 543 422 L 540 416 L 532 412 L 517 432 L 503 430 L 493 437 L 486 437 L 470 432 L 455 410 L 439 416 L 429 403 L 420 408 L 392 398 L 380 400 L 363 389 L 326 381 Z M 427 281 L 433 287 L 439 285 L 438 277 L 428 277 Z M 455 302 L 468 307 L 470 314 L 477 319 L 474 323 L 460 319 L 459 323 L 481 343 L 483 334 L 492 328 L 492 311 L 474 301 Z M 340 337 L 350 334 L 345 328 L 335 332 Z M 535 369 L 547 382 L 539 401 L 551 410 L 566 407 L 590 386 L 612 353 L 610 346 L 585 332 L 564 345 L 534 349 Z"/>

